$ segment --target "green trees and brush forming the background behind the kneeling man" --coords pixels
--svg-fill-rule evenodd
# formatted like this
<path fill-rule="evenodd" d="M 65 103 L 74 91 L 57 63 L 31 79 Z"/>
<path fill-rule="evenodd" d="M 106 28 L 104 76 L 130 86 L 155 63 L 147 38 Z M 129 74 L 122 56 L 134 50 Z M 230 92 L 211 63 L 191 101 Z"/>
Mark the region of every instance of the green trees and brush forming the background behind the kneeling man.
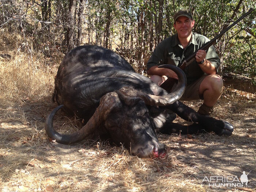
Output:
<path fill-rule="evenodd" d="M 69 0 L 0 1 L 0 28 L 18 31 L 24 41 L 28 37 L 33 39 L 34 48 L 47 57 L 56 51 L 55 47 L 65 53 L 68 29 L 74 29 L 74 39 L 77 38 L 79 2 L 76 0 L 74 26 L 68 26 Z M 109 38 L 108 46 L 141 71 L 144 59 L 151 55 L 159 39 L 175 33 L 173 14 L 176 11 L 190 9 L 195 19 L 194 31 L 211 39 L 249 8 L 255 8 L 251 0 L 164 0 L 161 12 L 160 4 L 160 0 L 85 0 L 82 41 L 105 46 Z M 255 76 L 255 15 L 254 11 L 215 45 L 225 72 L 244 74 L 252 79 Z"/>

